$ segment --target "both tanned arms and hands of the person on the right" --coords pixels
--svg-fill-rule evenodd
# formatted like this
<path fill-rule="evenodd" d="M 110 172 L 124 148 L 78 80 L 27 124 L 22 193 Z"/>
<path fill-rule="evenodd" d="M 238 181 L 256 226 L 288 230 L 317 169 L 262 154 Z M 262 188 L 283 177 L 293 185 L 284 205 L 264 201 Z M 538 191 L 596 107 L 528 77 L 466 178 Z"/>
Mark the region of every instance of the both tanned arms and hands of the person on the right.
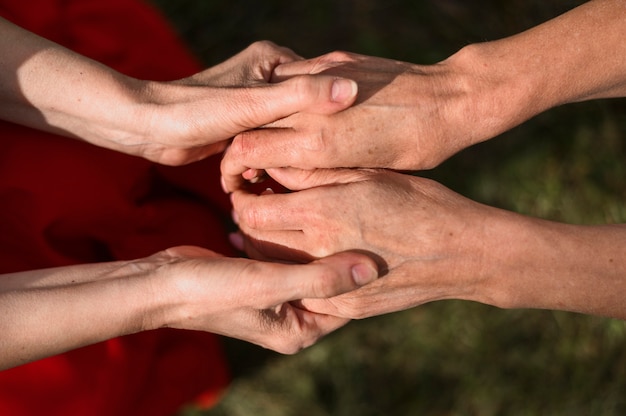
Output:
<path fill-rule="evenodd" d="M 222 163 L 242 232 L 233 242 L 263 259 L 378 256 L 382 279 L 302 301 L 317 312 L 363 318 L 467 299 L 626 319 L 624 225 L 529 218 L 372 170 L 431 168 L 554 106 L 625 96 L 625 20 L 625 2 L 594 0 L 432 66 L 340 52 L 277 67 L 277 79 L 351 74 L 359 97 L 337 114 L 297 114 L 235 138 Z M 248 191 L 263 171 L 298 192 Z"/>

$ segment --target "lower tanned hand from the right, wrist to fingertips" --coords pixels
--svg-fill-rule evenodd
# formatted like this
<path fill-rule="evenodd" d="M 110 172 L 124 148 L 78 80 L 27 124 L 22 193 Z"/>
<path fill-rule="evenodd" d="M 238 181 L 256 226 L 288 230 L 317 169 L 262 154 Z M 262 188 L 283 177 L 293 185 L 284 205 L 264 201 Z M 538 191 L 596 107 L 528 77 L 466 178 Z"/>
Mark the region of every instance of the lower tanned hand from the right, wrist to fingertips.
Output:
<path fill-rule="evenodd" d="M 305 261 L 344 250 L 380 259 L 388 273 L 370 285 L 304 307 L 349 318 L 465 298 L 479 283 L 481 243 L 492 208 L 419 177 L 376 170 L 269 171 L 290 194 L 232 194 L 257 258 Z M 306 189 L 308 188 L 308 189 Z"/>

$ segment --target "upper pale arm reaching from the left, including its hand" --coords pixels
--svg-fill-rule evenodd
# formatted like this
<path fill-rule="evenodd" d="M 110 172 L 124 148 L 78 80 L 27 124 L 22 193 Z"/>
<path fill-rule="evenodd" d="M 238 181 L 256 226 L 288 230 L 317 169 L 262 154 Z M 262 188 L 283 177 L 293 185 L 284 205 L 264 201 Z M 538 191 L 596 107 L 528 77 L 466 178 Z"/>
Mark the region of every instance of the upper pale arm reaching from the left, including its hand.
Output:
<path fill-rule="evenodd" d="M 97 146 L 181 165 L 222 151 L 237 133 L 294 112 L 339 111 L 356 84 L 334 76 L 271 85 L 300 59 L 257 42 L 192 77 L 138 80 L 0 18 L 0 118 Z"/>

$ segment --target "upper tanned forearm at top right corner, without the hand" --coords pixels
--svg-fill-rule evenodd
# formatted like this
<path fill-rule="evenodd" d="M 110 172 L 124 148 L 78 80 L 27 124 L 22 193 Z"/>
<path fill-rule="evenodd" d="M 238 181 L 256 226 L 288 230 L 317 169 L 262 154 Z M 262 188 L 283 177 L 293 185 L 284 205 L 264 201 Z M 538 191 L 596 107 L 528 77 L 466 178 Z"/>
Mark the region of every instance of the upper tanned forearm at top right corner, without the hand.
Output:
<path fill-rule="evenodd" d="M 593 0 L 501 40 L 469 45 L 445 64 L 465 94 L 451 106 L 471 143 L 490 139 L 558 105 L 626 96 L 626 3 Z"/>

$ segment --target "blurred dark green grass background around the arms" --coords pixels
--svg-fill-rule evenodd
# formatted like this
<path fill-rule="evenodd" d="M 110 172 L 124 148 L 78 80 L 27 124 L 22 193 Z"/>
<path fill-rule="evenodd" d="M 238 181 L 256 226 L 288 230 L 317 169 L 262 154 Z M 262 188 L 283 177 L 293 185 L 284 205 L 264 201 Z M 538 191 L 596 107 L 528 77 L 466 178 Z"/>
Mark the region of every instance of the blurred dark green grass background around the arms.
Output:
<path fill-rule="evenodd" d="M 306 57 L 342 49 L 435 63 L 583 3 L 152 1 L 207 66 L 260 39 Z M 624 100 L 556 108 L 424 174 L 528 215 L 626 222 L 625 114 Z M 352 322 L 295 356 L 225 343 L 231 389 L 210 412 L 184 415 L 626 414 L 618 320 L 444 301 Z"/>

